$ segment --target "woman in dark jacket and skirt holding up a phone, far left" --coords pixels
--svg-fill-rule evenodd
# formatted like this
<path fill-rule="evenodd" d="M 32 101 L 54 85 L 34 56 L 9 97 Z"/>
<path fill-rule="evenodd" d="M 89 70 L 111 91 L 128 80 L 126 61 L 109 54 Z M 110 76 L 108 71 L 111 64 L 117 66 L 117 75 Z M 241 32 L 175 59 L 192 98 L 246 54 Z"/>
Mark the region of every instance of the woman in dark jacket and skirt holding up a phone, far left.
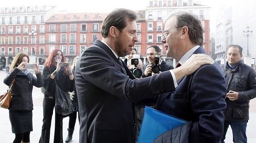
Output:
<path fill-rule="evenodd" d="M 10 72 L 4 78 L 4 84 L 11 85 L 12 81 L 12 99 L 9 107 L 9 118 L 12 125 L 12 133 L 15 139 L 12 143 L 29 143 L 30 132 L 33 131 L 32 123 L 32 90 L 33 86 L 42 87 L 43 80 L 38 64 L 34 64 L 33 73 L 25 69 L 25 64 L 29 63 L 29 57 L 25 53 L 18 53 L 14 57 Z"/>

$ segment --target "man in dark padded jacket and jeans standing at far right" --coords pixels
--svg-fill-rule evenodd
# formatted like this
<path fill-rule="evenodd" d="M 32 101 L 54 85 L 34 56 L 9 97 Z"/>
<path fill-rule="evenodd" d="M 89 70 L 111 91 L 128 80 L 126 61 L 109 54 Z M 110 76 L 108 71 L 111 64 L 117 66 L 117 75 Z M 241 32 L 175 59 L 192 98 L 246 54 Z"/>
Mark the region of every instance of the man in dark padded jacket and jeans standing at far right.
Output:
<path fill-rule="evenodd" d="M 247 143 L 246 127 L 249 120 L 249 102 L 256 97 L 255 70 L 241 62 L 243 48 L 239 45 L 228 47 L 227 62 L 223 68 L 227 82 L 226 103 L 224 111 L 224 132 L 222 143 L 230 125 L 234 143 Z"/>

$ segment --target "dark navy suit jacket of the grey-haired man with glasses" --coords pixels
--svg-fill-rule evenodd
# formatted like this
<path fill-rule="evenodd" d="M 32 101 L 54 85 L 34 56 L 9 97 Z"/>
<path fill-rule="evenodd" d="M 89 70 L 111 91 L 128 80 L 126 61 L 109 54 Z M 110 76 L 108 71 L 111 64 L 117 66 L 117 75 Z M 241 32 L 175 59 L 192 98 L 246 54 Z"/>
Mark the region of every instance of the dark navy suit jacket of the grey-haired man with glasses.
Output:
<path fill-rule="evenodd" d="M 204 52 L 199 47 L 194 54 Z M 157 109 L 193 122 L 188 143 L 220 143 L 227 86 L 219 65 L 203 65 L 177 83 L 175 91 L 159 96 Z"/>

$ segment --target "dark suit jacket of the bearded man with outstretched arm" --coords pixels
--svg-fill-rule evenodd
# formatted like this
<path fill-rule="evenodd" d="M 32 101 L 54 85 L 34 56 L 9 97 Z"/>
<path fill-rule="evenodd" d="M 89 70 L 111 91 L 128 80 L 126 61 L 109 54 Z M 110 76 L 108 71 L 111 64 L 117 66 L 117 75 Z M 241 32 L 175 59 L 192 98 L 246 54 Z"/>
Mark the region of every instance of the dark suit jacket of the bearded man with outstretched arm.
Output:
<path fill-rule="evenodd" d="M 134 103 L 175 90 L 170 71 L 134 79 L 108 46 L 96 40 L 78 58 L 75 83 L 79 143 L 135 143 Z"/>

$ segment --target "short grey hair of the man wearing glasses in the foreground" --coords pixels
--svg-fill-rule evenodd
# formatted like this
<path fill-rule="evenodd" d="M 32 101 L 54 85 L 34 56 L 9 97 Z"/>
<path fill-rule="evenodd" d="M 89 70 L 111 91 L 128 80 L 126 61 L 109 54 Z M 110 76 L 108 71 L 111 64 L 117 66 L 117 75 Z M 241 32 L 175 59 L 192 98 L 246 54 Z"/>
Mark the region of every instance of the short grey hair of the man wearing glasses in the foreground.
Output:
<path fill-rule="evenodd" d="M 175 12 L 167 20 L 171 17 L 176 17 L 176 27 L 178 29 L 184 26 L 188 27 L 189 39 L 193 44 L 203 46 L 203 27 L 196 15 L 188 12 Z"/>

